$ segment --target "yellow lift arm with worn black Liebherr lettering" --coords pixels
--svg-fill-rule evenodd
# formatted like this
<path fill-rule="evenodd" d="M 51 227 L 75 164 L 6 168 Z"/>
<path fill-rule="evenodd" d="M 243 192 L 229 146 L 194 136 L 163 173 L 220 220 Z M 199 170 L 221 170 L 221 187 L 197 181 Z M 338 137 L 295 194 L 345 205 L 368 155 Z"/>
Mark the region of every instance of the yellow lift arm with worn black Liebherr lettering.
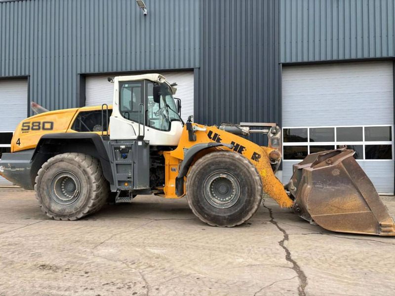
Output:
<path fill-rule="evenodd" d="M 179 141 L 178 147 L 170 152 L 170 155 L 176 157 L 178 159 L 184 159 L 184 149 L 191 148 L 192 146 L 198 143 L 208 143 L 208 142 L 215 142 L 212 139 L 215 139 L 215 134 L 218 135 L 217 142 L 220 141 L 224 144 L 231 144 L 235 142 L 240 146 L 243 146 L 244 149 L 241 151 L 241 154 L 245 156 L 251 163 L 257 168 L 258 172 L 261 175 L 263 190 L 269 194 L 276 202 L 285 208 L 290 208 L 293 205 L 293 201 L 289 198 L 288 194 L 285 192 L 283 185 L 280 181 L 276 178 L 275 174 L 273 173 L 272 167 L 269 162 L 269 153 L 273 151 L 273 148 L 268 147 L 260 147 L 255 143 L 248 141 L 242 137 L 238 137 L 234 134 L 225 132 L 223 130 L 218 129 L 216 126 L 204 126 L 200 124 L 194 123 L 200 128 L 205 128 L 206 131 L 197 131 L 195 132 L 196 141 L 190 142 L 188 140 L 188 131 L 186 130 L 186 126 L 184 126 L 184 130 L 181 135 L 181 139 Z M 211 138 L 209 138 L 208 134 L 211 132 Z M 220 140 L 219 140 L 220 139 Z M 236 147 L 235 147 L 236 148 Z M 234 149 L 235 149 L 234 148 Z M 226 147 L 218 147 L 215 148 L 217 150 L 231 150 Z M 233 149 L 233 150 L 234 150 Z M 232 151 L 233 151 L 232 150 Z M 258 161 L 253 159 L 253 154 L 258 153 L 261 157 Z M 237 153 L 237 152 L 235 152 Z M 188 175 L 187 175 L 188 178 Z"/>

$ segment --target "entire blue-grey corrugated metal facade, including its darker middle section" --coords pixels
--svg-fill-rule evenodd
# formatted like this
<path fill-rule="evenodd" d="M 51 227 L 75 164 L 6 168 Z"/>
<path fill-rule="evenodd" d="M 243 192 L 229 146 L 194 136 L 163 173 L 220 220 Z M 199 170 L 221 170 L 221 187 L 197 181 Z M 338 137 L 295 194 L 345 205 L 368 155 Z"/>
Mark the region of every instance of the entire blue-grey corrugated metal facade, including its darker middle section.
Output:
<path fill-rule="evenodd" d="M 395 0 L 145 2 L 0 1 L 0 78 L 55 110 L 83 106 L 85 75 L 194 69 L 198 122 L 281 124 L 281 63 L 395 55 Z"/>

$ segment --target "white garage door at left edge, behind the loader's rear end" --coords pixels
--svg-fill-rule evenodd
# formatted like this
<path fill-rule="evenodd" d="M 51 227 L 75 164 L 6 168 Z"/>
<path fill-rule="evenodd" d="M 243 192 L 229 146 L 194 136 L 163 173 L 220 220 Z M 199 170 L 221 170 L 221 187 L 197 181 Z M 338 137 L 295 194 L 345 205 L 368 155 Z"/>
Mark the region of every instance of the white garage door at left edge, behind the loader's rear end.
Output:
<path fill-rule="evenodd" d="M 12 133 L 18 123 L 27 117 L 27 79 L 0 79 L 0 158 L 10 152 Z M 0 185 L 11 185 L 0 177 Z"/>

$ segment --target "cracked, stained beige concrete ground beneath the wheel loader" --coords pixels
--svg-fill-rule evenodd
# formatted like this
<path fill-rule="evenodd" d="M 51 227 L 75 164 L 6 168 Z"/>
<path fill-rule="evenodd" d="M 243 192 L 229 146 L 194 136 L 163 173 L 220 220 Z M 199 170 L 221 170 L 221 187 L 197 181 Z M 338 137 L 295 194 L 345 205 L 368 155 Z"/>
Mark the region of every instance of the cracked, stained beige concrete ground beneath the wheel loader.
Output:
<path fill-rule="evenodd" d="M 395 198 L 383 200 L 394 216 Z M 138 196 L 59 222 L 34 192 L 0 188 L 0 295 L 394 295 L 394 237 L 329 232 L 265 207 L 218 228 L 185 199 Z"/>

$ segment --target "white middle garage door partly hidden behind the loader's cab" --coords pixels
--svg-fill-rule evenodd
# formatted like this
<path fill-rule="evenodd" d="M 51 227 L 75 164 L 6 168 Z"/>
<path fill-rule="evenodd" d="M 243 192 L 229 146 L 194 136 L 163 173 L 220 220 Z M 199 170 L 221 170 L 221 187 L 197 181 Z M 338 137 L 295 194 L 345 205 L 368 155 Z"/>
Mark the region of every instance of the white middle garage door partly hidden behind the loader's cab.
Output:
<path fill-rule="evenodd" d="M 194 73 L 164 72 L 159 74 L 165 76 L 170 83 L 176 82 L 178 84 L 175 97 L 181 99 L 181 117 L 186 121 L 189 115 L 194 114 Z M 115 75 L 86 77 L 86 106 L 112 104 L 114 84 L 107 81 L 109 76 Z"/>

